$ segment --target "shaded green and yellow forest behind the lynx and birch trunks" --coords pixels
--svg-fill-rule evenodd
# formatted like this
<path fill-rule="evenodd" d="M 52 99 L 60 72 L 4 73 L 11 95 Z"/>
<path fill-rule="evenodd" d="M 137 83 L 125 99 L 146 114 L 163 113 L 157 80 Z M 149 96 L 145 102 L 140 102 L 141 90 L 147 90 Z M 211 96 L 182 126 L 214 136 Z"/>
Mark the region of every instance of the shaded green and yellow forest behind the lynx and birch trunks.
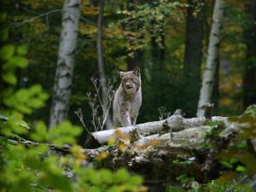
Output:
<path fill-rule="evenodd" d="M 41 84 L 52 93 L 60 41 L 63 1 L 20 0 L 9 3 L 9 40 L 26 44 L 29 66 L 17 72 L 17 89 Z M 182 108 L 195 117 L 201 74 L 207 55 L 214 1 L 104 1 L 102 49 L 107 79 L 118 87 L 118 71 L 140 67 L 143 105 L 137 123 L 158 120 L 159 109 L 173 113 Z M 96 55 L 97 1 L 84 0 L 75 52 L 69 116 L 82 108 L 91 125 L 87 93 L 95 94 L 90 78 L 99 78 Z M 212 94 L 214 114 L 240 114 L 256 102 L 255 3 L 227 1 L 218 67 Z M 49 121 L 51 100 L 27 121 Z M 92 129 L 93 130 L 93 129 Z"/>

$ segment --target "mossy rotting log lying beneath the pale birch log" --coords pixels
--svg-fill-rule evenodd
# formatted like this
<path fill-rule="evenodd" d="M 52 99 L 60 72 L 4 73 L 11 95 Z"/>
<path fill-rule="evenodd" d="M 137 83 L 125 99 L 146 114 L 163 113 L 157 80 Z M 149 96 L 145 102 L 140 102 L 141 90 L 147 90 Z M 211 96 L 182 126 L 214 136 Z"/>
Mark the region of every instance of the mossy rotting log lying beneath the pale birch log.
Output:
<path fill-rule="evenodd" d="M 226 118 L 212 118 L 222 119 Z M 196 119 L 196 125 L 204 123 L 204 119 Z M 173 123 L 174 119 L 169 119 Z M 226 123 L 217 125 L 201 125 L 189 127 L 191 119 L 183 119 L 183 130 L 156 133 L 147 137 L 141 137 L 134 143 L 122 141 L 121 139 L 113 146 L 103 146 L 101 148 L 83 149 L 83 153 L 88 157 L 88 162 L 99 160 L 101 154 L 107 154 L 105 159 L 101 159 L 102 167 L 112 170 L 125 166 L 131 172 L 142 175 L 145 185 L 151 191 L 164 191 L 164 184 L 177 182 L 177 177 L 186 174 L 188 177 L 195 177 L 198 182 L 205 182 L 210 177 L 218 174 L 220 166 L 215 160 L 215 155 L 230 142 L 232 134 L 236 132 L 236 126 Z M 190 124 L 189 124 L 189 123 Z M 161 122 L 166 124 L 166 120 Z M 144 124 L 145 125 L 145 124 Z M 180 128 L 180 127 L 179 127 Z M 215 136 L 209 137 L 209 133 L 216 130 Z M 219 132 L 224 131 L 221 136 Z M 215 131 L 214 131 L 215 132 Z M 29 141 L 9 141 L 12 144 L 31 145 L 47 144 L 50 150 L 61 151 L 62 154 L 70 153 L 71 146 L 55 146 L 48 143 L 32 143 Z M 207 148 L 207 144 L 212 143 L 213 150 Z M 89 165 L 89 164 L 85 164 Z M 155 188 L 154 188 L 155 187 Z M 161 188 L 163 187 L 163 188 Z"/>

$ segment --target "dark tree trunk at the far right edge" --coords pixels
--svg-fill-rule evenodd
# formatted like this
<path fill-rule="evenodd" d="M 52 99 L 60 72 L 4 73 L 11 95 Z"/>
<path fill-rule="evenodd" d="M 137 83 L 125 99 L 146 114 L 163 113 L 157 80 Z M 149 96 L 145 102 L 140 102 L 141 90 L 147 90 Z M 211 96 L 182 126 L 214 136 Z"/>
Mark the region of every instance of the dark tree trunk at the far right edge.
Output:
<path fill-rule="evenodd" d="M 246 71 L 244 74 L 244 108 L 256 103 L 256 2 L 251 0 L 247 4 L 247 13 L 250 15 L 250 26 L 245 32 L 245 39 L 247 44 L 247 60 Z"/>

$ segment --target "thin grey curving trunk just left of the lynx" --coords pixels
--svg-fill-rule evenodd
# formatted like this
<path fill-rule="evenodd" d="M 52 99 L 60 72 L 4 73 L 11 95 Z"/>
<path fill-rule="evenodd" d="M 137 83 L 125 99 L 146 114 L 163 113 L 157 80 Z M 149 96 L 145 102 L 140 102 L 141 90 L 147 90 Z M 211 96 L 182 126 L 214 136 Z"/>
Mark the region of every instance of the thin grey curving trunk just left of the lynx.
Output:
<path fill-rule="evenodd" d="M 104 71 L 103 63 L 103 50 L 102 50 L 102 22 L 103 22 L 103 13 L 104 13 L 104 2 L 103 0 L 98 0 L 98 20 L 97 20 L 97 57 L 98 57 L 98 69 L 100 73 L 100 80 L 102 84 L 102 109 L 103 115 L 108 115 L 106 119 L 107 129 L 111 127 L 111 120 L 108 114 L 108 95 L 107 95 L 107 83 Z"/>

